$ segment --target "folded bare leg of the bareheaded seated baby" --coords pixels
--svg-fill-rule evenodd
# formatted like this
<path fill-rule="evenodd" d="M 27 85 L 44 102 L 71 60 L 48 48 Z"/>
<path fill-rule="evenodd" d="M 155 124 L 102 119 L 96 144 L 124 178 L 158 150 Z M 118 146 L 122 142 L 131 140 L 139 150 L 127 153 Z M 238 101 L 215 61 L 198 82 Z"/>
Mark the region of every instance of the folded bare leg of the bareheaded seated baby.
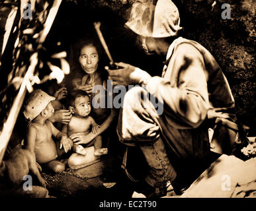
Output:
<path fill-rule="evenodd" d="M 85 150 L 87 152 L 85 155 L 73 153 L 69 157 L 69 159 L 67 160 L 67 165 L 71 169 L 78 169 L 80 167 L 85 166 L 89 162 L 99 159 L 99 156 L 95 156 L 94 146 L 89 146 L 89 147 L 85 148 Z"/>

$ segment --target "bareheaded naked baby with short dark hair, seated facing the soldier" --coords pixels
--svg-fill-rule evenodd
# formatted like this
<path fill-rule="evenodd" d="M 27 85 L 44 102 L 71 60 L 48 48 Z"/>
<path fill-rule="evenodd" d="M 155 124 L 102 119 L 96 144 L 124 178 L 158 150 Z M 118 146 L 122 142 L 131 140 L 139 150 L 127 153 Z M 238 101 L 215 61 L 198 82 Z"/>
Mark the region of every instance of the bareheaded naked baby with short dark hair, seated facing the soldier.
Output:
<path fill-rule="evenodd" d="M 99 133 L 100 126 L 95 122 L 89 114 L 91 112 L 91 100 L 89 95 L 83 90 L 73 90 L 68 96 L 69 111 L 73 114 L 68 125 L 64 125 L 62 131 L 71 136 L 75 133 L 83 133 L 87 135 L 91 131 L 93 134 Z M 94 140 L 87 144 L 73 145 L 72 154 L 67 160 L 67 164 L 71 168 L 81 167 L 92 160 L 96 160 L 98 156 L 107 154 L 108 149 L 102 148 L 102 136 L 98 135 Z M 94 146 L 93 148 L 90 148 Z M 93 152 L 94 151 L 94 152 Z"/>

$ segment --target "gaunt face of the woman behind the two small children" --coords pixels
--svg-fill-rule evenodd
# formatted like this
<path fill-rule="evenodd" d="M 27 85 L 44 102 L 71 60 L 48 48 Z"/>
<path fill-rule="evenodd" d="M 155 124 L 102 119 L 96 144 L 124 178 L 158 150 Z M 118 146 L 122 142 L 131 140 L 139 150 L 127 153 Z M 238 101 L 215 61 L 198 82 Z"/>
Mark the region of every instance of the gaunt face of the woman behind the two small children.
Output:
<path fill-rule="evenodd" d="M 85 45 L 79 55 L 79 63 L 87 74 L 93 74 L 97 71 L 99 54 L 93 45 Z"/>

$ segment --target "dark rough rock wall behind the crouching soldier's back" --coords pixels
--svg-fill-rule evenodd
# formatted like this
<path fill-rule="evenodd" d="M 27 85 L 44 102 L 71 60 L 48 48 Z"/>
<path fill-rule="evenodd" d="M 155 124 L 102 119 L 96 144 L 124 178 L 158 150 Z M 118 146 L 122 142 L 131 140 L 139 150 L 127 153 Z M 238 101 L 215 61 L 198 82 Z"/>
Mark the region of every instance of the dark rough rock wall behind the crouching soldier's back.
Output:
<path fill-rule="evenodd" d="M 212 3 L 214 1 L 184 1 L 186 34 L 214 55 L 230 82 L 237 117 L 255 134 L 256 2 L 219 0 L 214 7 Z M 226 20 L 222 19 L 224 3 L 231 8 L 230 19 Z"/>

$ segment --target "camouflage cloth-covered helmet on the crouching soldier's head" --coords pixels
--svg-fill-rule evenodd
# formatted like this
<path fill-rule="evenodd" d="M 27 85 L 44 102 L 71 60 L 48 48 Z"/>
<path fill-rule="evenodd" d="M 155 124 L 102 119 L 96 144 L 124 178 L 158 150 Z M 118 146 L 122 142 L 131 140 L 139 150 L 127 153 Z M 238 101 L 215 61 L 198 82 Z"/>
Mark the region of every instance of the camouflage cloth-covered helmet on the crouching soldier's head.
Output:
<path fill-rule="evenodd" d="M 171 0 L 136 0 L 125 26 L 145 37 L 165 38 L 177 35 L 179 11 Z"/>

